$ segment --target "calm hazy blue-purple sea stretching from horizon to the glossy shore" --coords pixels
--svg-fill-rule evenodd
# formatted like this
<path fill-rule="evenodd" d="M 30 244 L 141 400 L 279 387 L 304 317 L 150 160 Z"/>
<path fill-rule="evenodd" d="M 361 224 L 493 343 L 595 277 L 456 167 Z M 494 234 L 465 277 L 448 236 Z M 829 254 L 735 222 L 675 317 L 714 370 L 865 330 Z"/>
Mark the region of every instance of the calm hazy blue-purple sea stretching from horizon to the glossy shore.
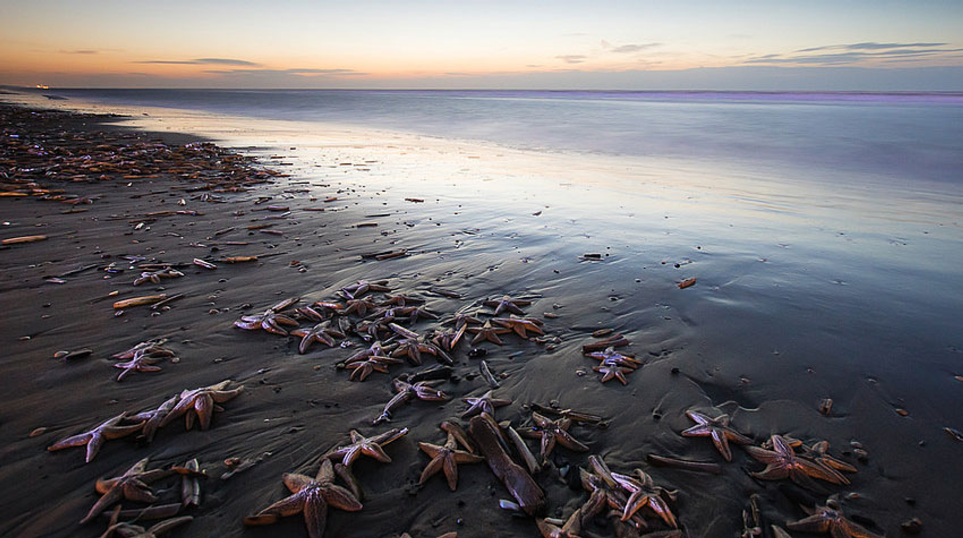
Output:
<path fill-rule="evenodd" d="M 963 92 L 57 90 L 108 104 L 336 122 L 548 151 L 963 182 Z"/>

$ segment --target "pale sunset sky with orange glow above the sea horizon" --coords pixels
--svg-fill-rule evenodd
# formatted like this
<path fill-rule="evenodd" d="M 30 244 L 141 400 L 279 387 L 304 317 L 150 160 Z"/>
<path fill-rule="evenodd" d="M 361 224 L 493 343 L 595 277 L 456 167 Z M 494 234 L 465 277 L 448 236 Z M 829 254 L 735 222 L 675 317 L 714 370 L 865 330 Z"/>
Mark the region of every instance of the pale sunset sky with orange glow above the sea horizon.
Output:
<path fill-rule="evenodd" d="M 3 0 L 0 84 L 963 90 L 963 1 Z"/>

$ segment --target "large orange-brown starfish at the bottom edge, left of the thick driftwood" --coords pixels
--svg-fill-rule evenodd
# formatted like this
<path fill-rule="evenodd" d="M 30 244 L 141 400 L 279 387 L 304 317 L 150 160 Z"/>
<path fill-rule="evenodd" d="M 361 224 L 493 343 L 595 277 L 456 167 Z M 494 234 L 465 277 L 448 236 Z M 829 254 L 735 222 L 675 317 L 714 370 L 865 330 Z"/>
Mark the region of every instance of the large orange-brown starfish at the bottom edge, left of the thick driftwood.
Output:
<path fill-rule="evenodd" d="M 278 517 L 303 512 L 308 536 L 321 538 L 325 534 L 328 504 L 348 512 L 361 509 L 361 502 L 354 494 L 334 483 L 334 469 L 326 458 L 314 478 L 285 473 L 282 479 L 292 495 L 274 502 L 253 516 L 247 516 L 245 525 L 269 525 L 276 522 Z"/>

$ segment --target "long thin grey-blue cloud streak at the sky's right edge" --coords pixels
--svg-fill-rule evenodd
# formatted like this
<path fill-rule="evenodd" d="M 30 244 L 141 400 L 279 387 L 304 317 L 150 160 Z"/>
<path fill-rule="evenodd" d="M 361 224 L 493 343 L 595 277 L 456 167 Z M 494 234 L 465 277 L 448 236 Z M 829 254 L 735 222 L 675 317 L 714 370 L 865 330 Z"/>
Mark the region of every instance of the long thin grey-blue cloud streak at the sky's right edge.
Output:
<path fill-rule="evenodd" d="M 845 65 L 872 62 L 908 62 L 947 59 L 963 51 L 947 48 L 949 43 L 877 43 L 873 41 L 823 45 L 796 50 L 789 54 L 767 54 L 744 61 L 745 64 Z"/>

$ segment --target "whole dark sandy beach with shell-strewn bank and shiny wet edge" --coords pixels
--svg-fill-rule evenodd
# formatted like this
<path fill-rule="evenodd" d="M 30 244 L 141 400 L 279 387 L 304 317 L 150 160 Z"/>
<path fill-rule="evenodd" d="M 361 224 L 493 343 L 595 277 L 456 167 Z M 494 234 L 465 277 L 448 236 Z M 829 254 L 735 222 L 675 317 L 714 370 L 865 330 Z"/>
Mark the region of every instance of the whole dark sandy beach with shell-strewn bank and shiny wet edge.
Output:
<path fill-rule="evenodd" d="M 282 474 L 314 476 L 328 450 L 349 444 L 352 429 L 373 436 L 398 427 L 407 432 L 384 446 L 390 463 L 354 464 L 363 508 L 329 507 L 326 536 L 535 536 L 533 517 L 499 507 L 511 495 L 483 463 L 459 465 L 454 492 L 440 475 L 418 484 L 429 463 L 418 443 L 443 445 L 443 421 L 467 429 L 462 398 L 488 390 L 511 401 L 495 419 L 515 428 L 531 427 L 539 407 L 602 418 L 569 427 L 587 451 L 555 448 L 534 474 L 546 497 L 539 517 L 565 520 L 583 506 L 589 493 L 579 469 L 597 454 L 613 472 L 640 468 L 678 490 L 669 505 L 685 536 L 739 535 L 750 498 L 768 536 L 769 525 L 786 527 L 834 495 L 847 518 L 879 535 L 918 530 L 914 519 L 924 535 L 956 532 L 963 370 L 958 326 L 944 314 L 957 299 L 935 288 L 900 295 L 905 288 L 890 284 L 902 282 L 900 264 L 908 262 L 873 270 L 864 263 L 884 248 L 950 251 L 959 242 L 958 217 L 929 211 L 936 206 L 923 194 L 915 209 L 904 208 L 900 231 L 911 237 L 872 218 L 836 226 L 847 217 L 828 202 L 824 215 L 779 213 L 779 202 L 816 189 L 806 186 L 747 181 L 741 185 L 754 192 L 779 193 L 740 198 L 741 211 L 725 213 L 718 204 L 742 187 L 703 188 L 697 179 L 673 183 L 651 172 L 643 187 L 620 192 L 589 165 L 571 177 L 591 179 L 569 182 L 554 173 L 565 166 L 553 155 L 508 167 L 522 160 L 499 150 L 443 151 L 427 140 L 306 148 L 283 135 L 224 149 L 161 123 L 153 131 L 124 126 L 116 116 L 3 105 L 0 117 L 0 500 L 9 514 L 0 534 L 100 535 L 109 514 L 77 523 L 99 498 L 94 482 L 149 457 L 151 469 L 196 458 L 206 474 L 198 479 L 200 505 L 180 512 L 194 520 L 174 536 L 306 535 L 299 515 L 268 526 L 242 522 L 289 495 Z M 848 194 L 860 203 L 858 191 Z M 759 212 L 778 213 L 775 223 Z M 787 231 L 814 215 L 820 224 Z M 823 226 L 821 218 L 840 220 Z M 43 239 L 6 241 L 32 236 Z M 913 259 L 921 275 L 944 270 L 924 256 L 885 256 Z M 154 270 L 167 272 L 154 282 Z M 390 291 L 364 294 L 351 288 L 358 281 Z M 145 295 L 167 302 L 117 307 Z M 394 295 L 409 302 L 385 302 Z M 365 333 L 372 320 L 414 304 L 427 313 L 409 320 L 406 311 L 394 322 L 430 342 L 435 331 L 457 327 L 456 315 L 508 318 L 495 314 L 505 296 L 521 299 L 517 315 L 544 335 L 504 331 L 499 346 L 472 344 L 475 334 L 466 332 L 435 387 L 447 399 L 414 399 L 390 422 L 373 424 L 395 395 L 392 379 L 446 361 L 424 352 L 423 364 L 413 365 L 400 355 L 388 373 L 352 381 L 343 363 L 371 345 L 365 337 L 401 339 L 387 325 Z M 345 337 L 300 353 L 297 336 L 235 325 L 289 297 L 298 298 L 286 312 L 299 328 L 324 319 Z M 361 298 L 373 304 L 342 311 Z M 295 313 L 316 303 L 339 307 L 314 307 L 317 320 Z M 638 361 L 621 370 L 624 385 L 601 383 L 593 371 L 599 361 L 584 353 L 612 335 L 625 340 L 617 351 Z M 118 382 L 114 365 L 122 361 L 112 355 L 151 339 L 166 339 L 176 358 L 160 353 L 160 371 L 132 371 Z M 222 380 L 244 389 L 219 404 L 207 430 L 186 431 L 178 419 L 149 443 L 137 433 L 108 440 L 90 463 L 83 447 L 47 450 Z M 709 439 L 681 435 L 695 425 L 687 411 L 727 414 L 757 447 L 773 434 L 806 446 L 828 441 L 828 452 L 856 472 L 843 473 L 846 484 L 762 479 L 754 474 L 767 466 L 736 442 L 727 462 Z M 538 457 L 539 441 L 528 447 Z M 651 454 L 720 469 L 659 466 Z M 172 474 L 152 483 L 155 504 L 180 503 L 181 480 Z M 586 519 L 582 535 L 614 535 L 606 512 Z M 639 514 L 646 531 L 669 530 L 648 508 Z"/>

